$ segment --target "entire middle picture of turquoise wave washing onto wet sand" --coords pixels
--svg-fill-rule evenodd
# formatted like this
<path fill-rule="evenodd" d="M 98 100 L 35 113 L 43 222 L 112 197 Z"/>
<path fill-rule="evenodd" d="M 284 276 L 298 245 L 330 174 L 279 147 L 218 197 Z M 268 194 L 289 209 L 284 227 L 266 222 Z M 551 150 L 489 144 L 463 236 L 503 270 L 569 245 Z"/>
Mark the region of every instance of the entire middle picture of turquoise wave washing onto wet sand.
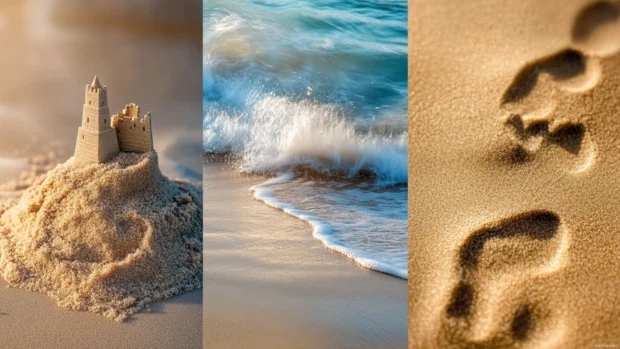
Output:
<path fill-rule="evenodd" d="M 205 347 L 406 347 L 407 3 L 203 11 Z"/>

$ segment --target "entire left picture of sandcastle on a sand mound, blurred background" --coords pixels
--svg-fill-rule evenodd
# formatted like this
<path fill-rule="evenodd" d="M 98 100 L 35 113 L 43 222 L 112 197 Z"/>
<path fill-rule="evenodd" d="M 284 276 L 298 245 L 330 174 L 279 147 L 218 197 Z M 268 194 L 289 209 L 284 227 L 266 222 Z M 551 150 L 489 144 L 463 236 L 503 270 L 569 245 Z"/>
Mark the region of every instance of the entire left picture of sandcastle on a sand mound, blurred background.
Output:
<path fill-rule="evenodd" d="M 1 348 L 202 346 L 201 10 L 0 2 Z"/>

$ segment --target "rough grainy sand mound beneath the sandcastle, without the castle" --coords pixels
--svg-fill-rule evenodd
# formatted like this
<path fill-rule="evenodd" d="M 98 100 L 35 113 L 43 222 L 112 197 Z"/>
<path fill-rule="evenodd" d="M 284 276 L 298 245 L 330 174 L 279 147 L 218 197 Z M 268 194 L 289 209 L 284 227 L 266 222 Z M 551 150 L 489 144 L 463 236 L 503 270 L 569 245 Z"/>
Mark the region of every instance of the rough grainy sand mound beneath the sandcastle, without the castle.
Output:
<path fill-rule="evenodd" d="M 0 205 L 0 275 L 63 308 L 116 321 L 202 287 L 202 192 L 157 155 L 58 165 Z"/>

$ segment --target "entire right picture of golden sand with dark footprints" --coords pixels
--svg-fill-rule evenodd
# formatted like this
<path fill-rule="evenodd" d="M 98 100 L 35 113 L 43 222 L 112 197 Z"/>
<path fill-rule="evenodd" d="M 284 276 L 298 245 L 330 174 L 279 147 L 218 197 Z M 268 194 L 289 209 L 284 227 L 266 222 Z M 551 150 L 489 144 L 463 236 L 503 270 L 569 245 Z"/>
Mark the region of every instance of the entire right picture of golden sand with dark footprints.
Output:
<path fill-rule="evenodd" d="M 409 4 L 409 347 L 620 346 L 619 4 Z"/>

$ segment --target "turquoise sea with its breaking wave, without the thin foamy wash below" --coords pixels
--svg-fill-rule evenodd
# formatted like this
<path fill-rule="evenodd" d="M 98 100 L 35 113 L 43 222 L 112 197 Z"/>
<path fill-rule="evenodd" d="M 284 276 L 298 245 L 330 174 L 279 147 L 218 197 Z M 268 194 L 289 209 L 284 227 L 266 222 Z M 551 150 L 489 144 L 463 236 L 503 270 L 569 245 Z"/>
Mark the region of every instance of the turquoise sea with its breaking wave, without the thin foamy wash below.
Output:
<path fill-rule="evenodd" d="M 251 173 L 407 182 L 406 4 L 207 7 L 209 156 Z"/>

